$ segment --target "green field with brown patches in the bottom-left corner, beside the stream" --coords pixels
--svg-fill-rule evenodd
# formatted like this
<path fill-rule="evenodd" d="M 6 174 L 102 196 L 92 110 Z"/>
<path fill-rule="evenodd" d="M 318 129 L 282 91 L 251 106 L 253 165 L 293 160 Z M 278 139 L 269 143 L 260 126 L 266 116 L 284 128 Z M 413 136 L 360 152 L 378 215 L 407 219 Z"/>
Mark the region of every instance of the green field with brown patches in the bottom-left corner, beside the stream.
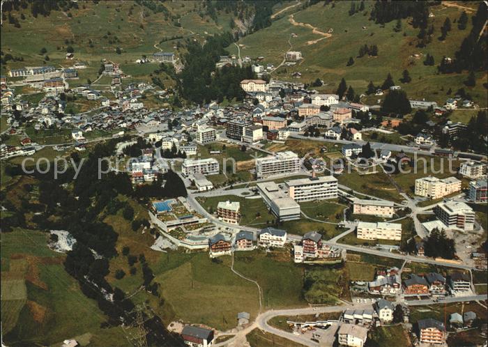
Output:
<path fill-rule="evenodd" d="M 120 327 L 100 328 L 106 317 L 66 273 L 65 256 L 47 247 L 47 235 L 24 229 L 2 233 L 3 341 L 50 346 L 89 332 L 94 345 L 127 346 Z"/>

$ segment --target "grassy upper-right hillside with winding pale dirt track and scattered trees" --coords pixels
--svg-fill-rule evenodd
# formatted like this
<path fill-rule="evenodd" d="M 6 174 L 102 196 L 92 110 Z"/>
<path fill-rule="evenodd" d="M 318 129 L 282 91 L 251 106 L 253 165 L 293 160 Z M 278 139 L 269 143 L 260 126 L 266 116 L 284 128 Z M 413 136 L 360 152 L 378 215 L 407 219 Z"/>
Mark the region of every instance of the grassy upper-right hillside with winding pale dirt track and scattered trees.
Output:
<path fill-rule="evenodd" d="M 301 72 L 300 82 L 311 82 L 320 78 L 325 82 L 321 87 L 323 91 L 332 92 L 337 88 L 340 79 L 344 77 L 351 84 L 356 93 L 364 93 L 370 80 L 378 85 L 383 82 L 391 72 L 395 82 L 400 84 L 404 69 L 409 70 L 412 82 L 402 84 L 410 98 L 426 98 L 444 102 L 448 96 L 446 91 L 452 88 L 465 87 L 467 72 L 462 75 L 437 75 L 436 65 L 443 56 L 453 57 L 462 40 L 471 30 L 471 20 L 465 30 L 457 29 L 454 22 L 461 15 L 463 8 L 439 5 L 431 8 L 434 17 L 429 18 L 429 25 L 434 25 L 432 42 L 425 48 L 415 47 L 419 29 L 414 29 L 409 24 L 410 19 L 402 20 L 402 30 L 395 32 L 393 28 L 396 22 L 387 23 L 383 28 L 379 24 L 369 21 L 369 12 L 374 1 L 366 1 L 363 13 L 349 16 L 349 1 L 335 1 L 334 5 L 317 3 L 305 9 L 301 6 L 290 8 L 280 13 L 271 26 L 252 33 L 242 38 L 238 44 L 241 47 L 241 56 L 264 56 L 264 63 L 279 65 L 287 50 L 298 50 L 303 54 L 303 61 L 293 67 L 277 69 L 273 76 L 280 79 L 291 79 L 292 72 Z M 464 2 L 468 17 L 475 13 L 478 3 Z M 473 10 L 468 10 L 473 8 Z M 293 13 L 293 11 L 295 11 Z M 446 40 L 440 41 L 441 26 L 446 17 L 450 18 L 452 30 Z M 295 25 L 293 25 L 293 23 Z M 298 25 L 297 23 L 302 23 Z M 303 24 L 309 24 L 304 26 Z M 330 37 L 319 33 L 313 33 L 312 28 L 328 33 L 333 29 Z M 291 37 L 295 33 L 298 37 Z M 377 57 L 363 56 L 358 58 L 358 50 L 361 45 L 377 45 L 379 55 Z M 230 52 L 237 54 L 237 47 L 228 47 Z M 425 66 L 423 61 L 427 53 L 434 56 L 436 65 Z M 418 54 L 418 57 L 413 56 Z M 349 57 L 352 56 L 355 63 L 346 66 Z M 469 90 L 480 107 L 486 107 L 486 89 L 482 86 L 487 80 L 486 73 L 476 75 L 478 81 L 474 88 Z M 443 91 L 441 90 L 443 88 Z M 368 100 L 376 102 L 376 98 Z"/>

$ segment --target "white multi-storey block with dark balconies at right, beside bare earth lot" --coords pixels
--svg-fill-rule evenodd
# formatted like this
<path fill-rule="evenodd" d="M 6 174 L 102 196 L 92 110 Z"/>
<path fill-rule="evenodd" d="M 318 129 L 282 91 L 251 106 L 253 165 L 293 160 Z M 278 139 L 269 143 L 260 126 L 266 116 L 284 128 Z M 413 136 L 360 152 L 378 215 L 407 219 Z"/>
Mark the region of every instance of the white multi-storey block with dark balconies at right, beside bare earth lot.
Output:
<path fill-rule="evenodd" d="M 434 213 L 448 229 L 473 230 L 475 213 L 464 202 L 445 201 L 434 207 Z"/>

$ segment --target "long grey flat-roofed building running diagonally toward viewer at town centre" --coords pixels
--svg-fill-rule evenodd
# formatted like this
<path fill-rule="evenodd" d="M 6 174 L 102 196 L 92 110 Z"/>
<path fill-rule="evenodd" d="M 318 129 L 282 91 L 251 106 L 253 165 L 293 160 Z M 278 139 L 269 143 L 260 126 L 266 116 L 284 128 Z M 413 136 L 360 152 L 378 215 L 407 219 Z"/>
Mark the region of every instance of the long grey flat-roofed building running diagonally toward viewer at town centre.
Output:
<path fill-rule="evenodd" d="M 300 219 L 300 205 L 285 194 L 274 182 L 257 183 L 264 203 L 280 220 Z"/>

